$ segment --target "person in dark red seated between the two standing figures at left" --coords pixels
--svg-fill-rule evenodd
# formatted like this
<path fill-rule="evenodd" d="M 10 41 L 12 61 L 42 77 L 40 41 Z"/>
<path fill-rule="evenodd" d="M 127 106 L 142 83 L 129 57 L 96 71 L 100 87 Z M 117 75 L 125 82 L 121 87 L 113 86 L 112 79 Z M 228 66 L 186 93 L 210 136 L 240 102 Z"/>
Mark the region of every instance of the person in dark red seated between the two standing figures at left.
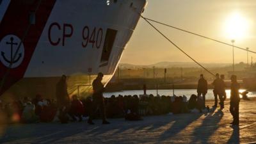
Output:
<path fill-rule="evenodd" d="M 75 116 L 77 116 L 79 118 L 79 122 L 81 122 L 83 114 L 84 114 L 83 102 L 81 102 L 81 100 L 78 99 L 77 95 L 73 95 L 71 106 L 70 106 L 70 116 L 72 117 L 72 120 L 76 121 Z"/>

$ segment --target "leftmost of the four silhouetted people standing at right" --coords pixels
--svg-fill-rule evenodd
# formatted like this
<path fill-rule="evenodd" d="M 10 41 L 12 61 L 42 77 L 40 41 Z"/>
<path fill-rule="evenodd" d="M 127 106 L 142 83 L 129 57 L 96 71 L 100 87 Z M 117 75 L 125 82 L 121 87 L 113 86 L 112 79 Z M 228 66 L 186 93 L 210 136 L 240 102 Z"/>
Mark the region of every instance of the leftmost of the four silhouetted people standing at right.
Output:
<path fill-rule="evenodd" d="M 197 97 L 202 95 L 204 100 L 204 107 L 205 107 L 205 95 L 207 93 L 207 90 L 208 90 L 207 81 L 204 79 L 204 75 L 200 74 L 200 79 L 198 80 L 198 84 L 197 84 Z"/>

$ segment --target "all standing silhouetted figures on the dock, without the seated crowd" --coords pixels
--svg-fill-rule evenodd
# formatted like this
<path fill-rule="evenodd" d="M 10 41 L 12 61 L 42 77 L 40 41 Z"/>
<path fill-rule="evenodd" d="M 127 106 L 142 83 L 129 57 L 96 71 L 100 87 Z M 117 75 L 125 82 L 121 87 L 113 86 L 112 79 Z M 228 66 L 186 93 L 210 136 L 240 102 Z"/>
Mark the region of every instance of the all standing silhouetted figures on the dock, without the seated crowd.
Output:
<path fill-rule="evenodd" d="M 97 76 L 97 78 L 93 81 L 93 95 L 92 95 L 92 102 L 93 105 L 100 109 L 101 115 L 102 115 L 102 124 L 109 124 L 109 122 L 106 120 L 106 114 L 105 114 L 105 106 L 104 106 L 104 97 L 103 92 L 105 90 L 104 85 L 102 84 L 102 77 L 104 75 L 100 72 Z M 65 109 L 68 106 L 69 98 L 67 93 L 67 83 L 66 78 L 63 76 L 61 78 L 61 81 L 56 86 L 56 96 L 57 96 L 57 102 L 58 106 L 61 109 Z M 220 74 L 216 74 L 216 78 L 212 82 L 213 86 L 213 93 L 214 93 L 214 106 L 217 107 L 218 105 L 218 98 L 220 99 L 220 109 L 224 108 L 224 101 L 227 98 L 226 92 L 225 92 L 225 76 Z M 230 77 L 231 84 L 230 84 L 230 113 L 233 116 L 233 122 L 230 123 L 232 125 L 238 125 L 239 124 L 239 83 L 237 83 L 237 77 L 235 75 L 232 75 Z M 204 75 L 200 75 L 200 79 L 198 80 L 198 87 L 197 87 L 197 101 L 203 100 L 203 108 L 205 108 L 205 95 L 208 91 L 208 83 L 207 80 L 204 78 Z M 64 96 L 64 97 L 63 97 Z M 90 118 L 88 119 L 88 124 L 94 124 L 92 122 L 93 117 L 93 110 L 90 111 Z"/>

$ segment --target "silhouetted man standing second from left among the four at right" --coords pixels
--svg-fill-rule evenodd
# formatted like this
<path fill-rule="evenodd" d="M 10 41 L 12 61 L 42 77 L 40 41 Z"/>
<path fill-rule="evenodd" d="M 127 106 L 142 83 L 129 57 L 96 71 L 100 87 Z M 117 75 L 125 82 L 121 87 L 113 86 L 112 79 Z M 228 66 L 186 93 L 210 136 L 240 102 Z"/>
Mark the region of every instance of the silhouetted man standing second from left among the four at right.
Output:
<path fill-rule="evenodd" d="M 220 98 L 220 101 L 222 102 L 223 99 L 221 99 L 220 95 L 221 95 L 221 79 L 220 79 L 220 75 L 217 73 L 216 75 L 216 79 L 214 79 L 212 85 L 214 86 L 213 89 L 213 94 L 214 94 L 214 107 L 217 106 L 218 104 L 218 96 Z"/>

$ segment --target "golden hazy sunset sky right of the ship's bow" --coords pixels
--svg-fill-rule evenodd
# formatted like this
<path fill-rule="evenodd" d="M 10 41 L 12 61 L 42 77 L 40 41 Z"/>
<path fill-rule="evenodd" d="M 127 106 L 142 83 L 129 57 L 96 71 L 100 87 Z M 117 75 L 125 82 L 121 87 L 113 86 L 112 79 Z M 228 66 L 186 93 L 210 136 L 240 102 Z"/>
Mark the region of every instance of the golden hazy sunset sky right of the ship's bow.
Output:
<path fill-rule="evenodd" d="M 144 17 L 256 51 L 255 0 L 148 0 Z M 175 44 L 201 63 L 232 63 L 232 47 L 153 23 Z M 256 54 L 253 61 L 256 61 Z M 159 61 L 191 61 L 141 19 L 121 63 L 148 65 Z M 247 62 L 235 49 L 235 63 Z"/>

